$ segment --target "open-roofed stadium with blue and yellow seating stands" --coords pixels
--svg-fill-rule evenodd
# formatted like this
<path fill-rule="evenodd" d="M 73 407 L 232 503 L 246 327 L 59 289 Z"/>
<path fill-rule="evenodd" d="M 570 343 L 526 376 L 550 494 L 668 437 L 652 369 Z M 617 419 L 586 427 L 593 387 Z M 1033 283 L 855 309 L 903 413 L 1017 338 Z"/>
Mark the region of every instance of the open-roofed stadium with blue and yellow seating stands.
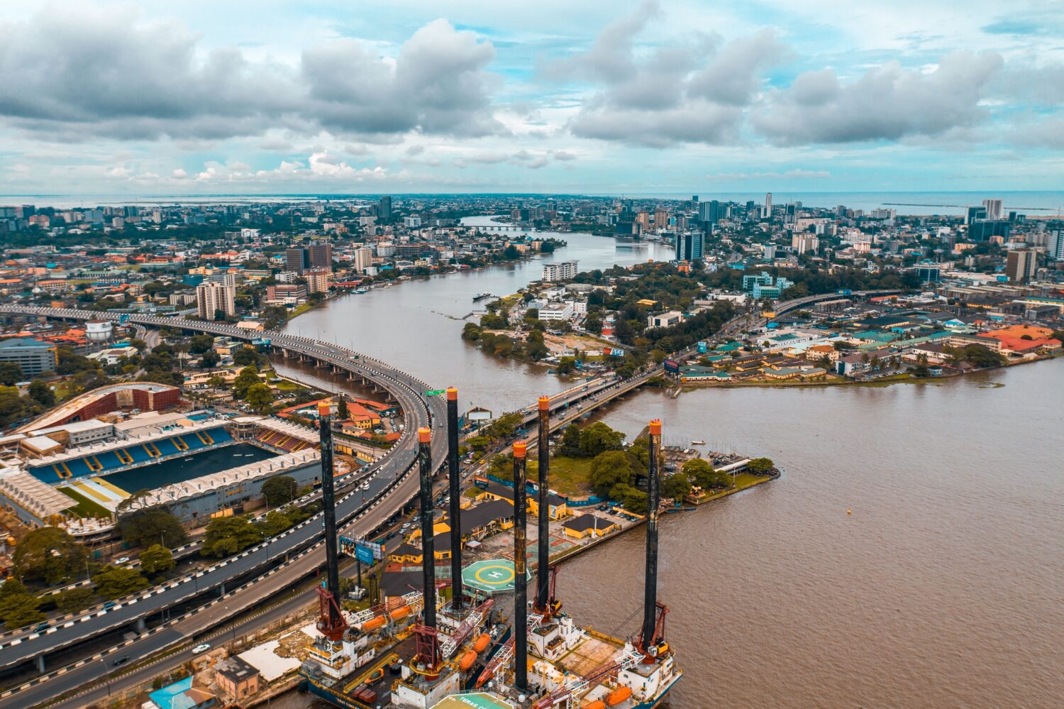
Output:
<path fill-rule="evenodd" d="M 283 418 L 195 409 L 166 384 L 103 386 L 0 438 L 0 505 L 83 538 L 109 535 L 119 506 L 163 505 L 203 525 L 260 505 L 271 477 L 318 484 L 317 438 Z"/>

